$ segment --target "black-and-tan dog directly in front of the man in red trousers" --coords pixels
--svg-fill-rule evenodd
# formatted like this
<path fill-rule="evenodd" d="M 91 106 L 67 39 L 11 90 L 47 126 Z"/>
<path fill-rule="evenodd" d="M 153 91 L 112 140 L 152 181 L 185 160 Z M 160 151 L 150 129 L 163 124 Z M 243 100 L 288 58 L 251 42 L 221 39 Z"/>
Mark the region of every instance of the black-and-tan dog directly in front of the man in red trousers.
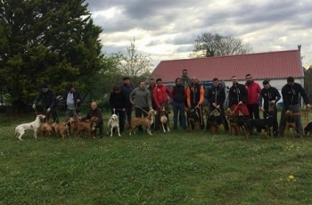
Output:
<path fill-rule="evenodd" d="M 226 111 L 227 120 L 230 124 L 232 135 L 242 135 L 246 120 L 243 116 L 235 116 L 234 111 Z"/>

